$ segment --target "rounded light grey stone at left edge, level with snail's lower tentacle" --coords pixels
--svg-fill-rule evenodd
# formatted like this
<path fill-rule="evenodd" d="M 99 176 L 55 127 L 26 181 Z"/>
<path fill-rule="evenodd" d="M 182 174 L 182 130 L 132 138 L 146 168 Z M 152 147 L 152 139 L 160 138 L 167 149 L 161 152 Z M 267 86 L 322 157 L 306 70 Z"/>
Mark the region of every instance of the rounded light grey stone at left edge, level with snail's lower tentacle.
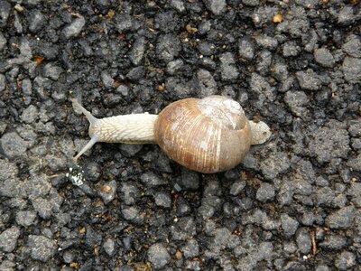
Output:
<path fill-rule="evenodd" d="M 3 135 L 0 139 L 0 144 L 5 155 L 9 158 L 23 156 L 28 148 L 26 141 L 15 132 Z"/>

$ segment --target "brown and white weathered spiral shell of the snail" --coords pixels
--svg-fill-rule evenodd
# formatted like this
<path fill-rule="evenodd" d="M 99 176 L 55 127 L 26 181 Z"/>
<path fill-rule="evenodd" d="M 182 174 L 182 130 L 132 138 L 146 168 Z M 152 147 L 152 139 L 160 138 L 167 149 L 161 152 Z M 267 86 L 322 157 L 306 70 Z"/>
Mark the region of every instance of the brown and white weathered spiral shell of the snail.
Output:
<path fill-rule="evenodd" d="M 235 167 L 251 145 L 251 127 L 242 107 L 221 96 L 171 103 L 159 114 L 154 131 L 165 154 L 200 173 Z"/>

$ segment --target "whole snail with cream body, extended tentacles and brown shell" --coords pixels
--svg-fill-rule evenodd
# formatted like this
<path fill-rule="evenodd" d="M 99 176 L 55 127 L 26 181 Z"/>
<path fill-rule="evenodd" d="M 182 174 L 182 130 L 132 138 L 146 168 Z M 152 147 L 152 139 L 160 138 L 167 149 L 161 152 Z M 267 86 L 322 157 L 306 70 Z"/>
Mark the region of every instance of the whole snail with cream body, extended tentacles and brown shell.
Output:
<path fill-rule="evenodd" d="M 75 162 L 97 142 L 157 144 L 177 163 L 199 173 L 232 169 L 245 158 L 250 145 L 270 136 L 264 122 L 249 121 L 235 100 L 223 96 L 185 98 L 171 103 L 159 115 L 148 113 L 98 119 L 71 99 L 90 123 L 87 145 Z"/>

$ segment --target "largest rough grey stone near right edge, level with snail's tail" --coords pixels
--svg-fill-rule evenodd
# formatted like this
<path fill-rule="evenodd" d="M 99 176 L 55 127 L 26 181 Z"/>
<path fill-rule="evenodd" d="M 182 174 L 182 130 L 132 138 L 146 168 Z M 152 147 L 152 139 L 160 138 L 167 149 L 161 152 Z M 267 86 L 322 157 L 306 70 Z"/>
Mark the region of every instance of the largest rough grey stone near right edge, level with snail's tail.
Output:
<path fill-rule="evenodd" d="M 350 150 L 347 130 L 337 126 L 323 126 L 310 137 L 310 154 L 315 156 L 320 164 L 333 158 L 347 158 Z"/>

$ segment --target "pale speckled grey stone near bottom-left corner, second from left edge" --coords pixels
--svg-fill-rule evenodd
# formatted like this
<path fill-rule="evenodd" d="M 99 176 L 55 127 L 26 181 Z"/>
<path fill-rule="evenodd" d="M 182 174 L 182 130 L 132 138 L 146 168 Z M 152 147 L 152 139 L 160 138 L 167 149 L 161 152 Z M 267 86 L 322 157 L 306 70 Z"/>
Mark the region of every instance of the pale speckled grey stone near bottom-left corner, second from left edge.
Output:
<path fill-rule="evenodd" d="M 47 262 L 57 252 L 57 244 L 50 238 L 42 235 L 30 235 L 27 247 L 31 251 L 31 256 L 34 260 Z"/>

